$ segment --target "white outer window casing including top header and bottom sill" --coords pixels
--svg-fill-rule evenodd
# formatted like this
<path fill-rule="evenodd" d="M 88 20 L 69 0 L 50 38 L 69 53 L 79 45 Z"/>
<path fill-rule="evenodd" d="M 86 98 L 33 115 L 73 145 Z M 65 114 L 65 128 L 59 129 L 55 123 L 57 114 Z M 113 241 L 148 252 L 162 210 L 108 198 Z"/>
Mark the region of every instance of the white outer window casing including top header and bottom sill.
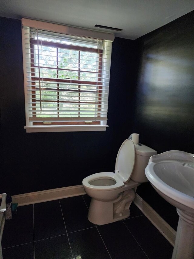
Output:
<path fill-rule="evenodd" d="M 39 22 L 35 20 L 29 20 L 22 18 L 22 49 L 23 49 L 23 63 L 24 63 L 24 82 L 26 82 L 26 78 L 28 76 L 28 72 L 26 69 L 26 58 L 30 60 L 30 53 L 26 54 L 26 44 L 29 44 L 29 39 L 26 39 L 25 30 L 23 26 L 27 26 L 30 28 L 38 28 L 43 30 L 48 30 L 52 32 L 58 33 L 66 33 L 69 35 L 75 36 L 83 36 L 90 38 L 98 38 L 98 39 L 107 39 L 111 42 L 114 41 L 114 34 L 104 33 L 92 30 L 79 29 L 75 27 L 67 27 L 57 24 L 52 24 L 48 22 Z M 108 52 L 108 50 L 107 50 Z M 106 56 L 106 49 L 104 49 L 104 56 Z M 109 71 L 110 71 L 110 63 L 109 63 Z M 109 84 L 109 79 L 108 79 Z M 29 122 L 29 108 L 28 108 L 28 93 L 27 87 L 25 89 L 25 113 L 26 113 L 26 132 L 61 132 L 61 131 L 105 131 L 107 127 L 106 120 L 100 121 L 100 124 L 83 124 L 83 125 L 32 125 L 32 122 Z M 102 88 L 103 91 L 103 88 Z"/>

